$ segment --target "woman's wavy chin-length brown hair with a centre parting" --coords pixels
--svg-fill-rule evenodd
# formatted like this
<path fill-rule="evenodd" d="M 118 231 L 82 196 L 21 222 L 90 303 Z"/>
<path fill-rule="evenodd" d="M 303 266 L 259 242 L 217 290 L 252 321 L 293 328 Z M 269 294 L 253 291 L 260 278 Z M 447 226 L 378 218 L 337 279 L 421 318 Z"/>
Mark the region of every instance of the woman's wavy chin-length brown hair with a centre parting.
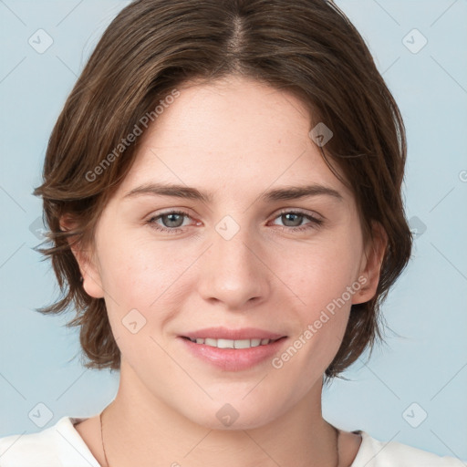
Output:
<path fill-rule="evenodd" d="M 388 237 L 377 293 L 352 306 L 326 381 L 382 340 L 379 306 L 412 244 L 400 192 L 406 137 L 400 110 L 355 26 L 325 0 L 139 0 L 112 21 L 67 98 L 48 142 L 43 184 L 34 192 L 43 197 L 53 244 L 38 251 L 51 257 L 62 294 L 38 311 L 75 307 L 67 326 L 80 327 L 87 368 L 118 369 L 120 354 L 104 299 L 84 291 L 68 240 L 92 244 L 99 214 L 135 159 L 140 139 L 128 140 L 136 126 L 145 130 L 141 118 L 155 121 L 158 103 L 189 79 L 232 74 L 295 93 L 310 110 L 310 130 L 318 122 L 332 130 L 326 146 L 318 146 L 355 195 L 365 244 L 374 239 L 373 222 Z M 66 215 L 76 225 L 62 232 Z"/>

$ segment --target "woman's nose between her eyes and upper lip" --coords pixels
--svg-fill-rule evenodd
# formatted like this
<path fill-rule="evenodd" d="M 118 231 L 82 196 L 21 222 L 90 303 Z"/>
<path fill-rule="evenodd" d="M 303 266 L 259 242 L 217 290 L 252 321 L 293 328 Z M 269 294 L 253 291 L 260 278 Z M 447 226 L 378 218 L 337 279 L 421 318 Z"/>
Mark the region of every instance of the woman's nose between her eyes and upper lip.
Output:
<path fill-rule="evenodd" d="M 272 274 L 264 249 L 246 229 L 227 238 L 213 231 L 212 244 L 200 258 L 198 290 L 205 301 L 242 311 L 265 301 Z"/>

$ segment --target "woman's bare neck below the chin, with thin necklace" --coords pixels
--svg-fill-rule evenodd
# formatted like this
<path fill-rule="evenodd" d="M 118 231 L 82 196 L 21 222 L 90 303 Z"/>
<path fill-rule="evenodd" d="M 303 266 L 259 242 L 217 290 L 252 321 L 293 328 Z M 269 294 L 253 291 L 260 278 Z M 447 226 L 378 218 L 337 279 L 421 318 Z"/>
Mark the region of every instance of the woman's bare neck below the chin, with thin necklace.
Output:
<path fill-rule="evenodd" d="M 118 395 L 102 414 L 106 467 L 153 466 L 156 459 L 173 467 L 337 466 L 337 431 L 322 418 L 321 380 L 290 410 L 261 427 L 211 430 L 161 400 L 142 396 L 140 388 L 128 383 L 134 375 L 122 378 L 127 369 L 120 369 Z"/>

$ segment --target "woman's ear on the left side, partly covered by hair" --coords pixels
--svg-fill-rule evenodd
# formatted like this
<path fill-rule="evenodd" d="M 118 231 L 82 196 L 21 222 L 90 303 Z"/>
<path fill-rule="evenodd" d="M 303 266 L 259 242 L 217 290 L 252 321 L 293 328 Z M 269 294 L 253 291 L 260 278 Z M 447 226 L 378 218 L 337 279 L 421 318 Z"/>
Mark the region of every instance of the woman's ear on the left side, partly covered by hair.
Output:
<path fill-rule="evenodd" d="M 66 232 L 76 226 L 76 222 L 69 215 L 60 218 L 60 230 Z M 99 273 L 99 263 L 97 257 L 93 253 L 92 246 L 85 248 L 84 245 L 76 242 L 73 237 L 67 239 L 71 252 L 75 256 L 79 271 L 82 276 L 82 284 L 88 296 L 94 298 L 102 298 L 104 296 L 104 289 L 102 280 Z"/>

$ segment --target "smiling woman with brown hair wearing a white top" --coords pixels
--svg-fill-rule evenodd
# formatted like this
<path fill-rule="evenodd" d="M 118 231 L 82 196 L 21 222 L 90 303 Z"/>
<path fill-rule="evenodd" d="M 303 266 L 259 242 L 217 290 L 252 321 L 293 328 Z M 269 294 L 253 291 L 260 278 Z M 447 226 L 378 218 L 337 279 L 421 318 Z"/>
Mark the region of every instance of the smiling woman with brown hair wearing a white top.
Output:
<path fill-rule="evenodd" d="M 399 109 L 323 0 L 140 0 L 49 140 L 51 257 L 95 417 L 0 440 L 12 465 L 454 466 L 321 414 L 410 259 Z"/>

